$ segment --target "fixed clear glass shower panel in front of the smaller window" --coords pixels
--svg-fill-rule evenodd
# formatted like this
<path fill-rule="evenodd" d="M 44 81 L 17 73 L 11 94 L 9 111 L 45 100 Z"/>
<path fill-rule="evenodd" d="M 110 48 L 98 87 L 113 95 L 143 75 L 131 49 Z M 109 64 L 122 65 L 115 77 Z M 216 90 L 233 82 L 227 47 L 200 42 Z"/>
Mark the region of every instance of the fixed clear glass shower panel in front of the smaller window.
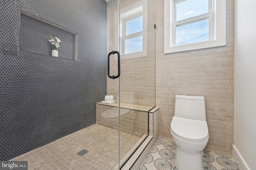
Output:
<path fill-rule="evenodd" d="M 148 137 L 148 111 L 155 106 L 156 18 L 148 0 L 119 0 L 119 6 L 121 75 L 118 79 L 122 167 Z M 131 24 L 132 21 L 134 24 Z M 129 41 L 138 38 L 140 41 Z M 138 47 L 140 50 L 136 51 Z M 134 51 L 127 53 L 130 49 Z"/>

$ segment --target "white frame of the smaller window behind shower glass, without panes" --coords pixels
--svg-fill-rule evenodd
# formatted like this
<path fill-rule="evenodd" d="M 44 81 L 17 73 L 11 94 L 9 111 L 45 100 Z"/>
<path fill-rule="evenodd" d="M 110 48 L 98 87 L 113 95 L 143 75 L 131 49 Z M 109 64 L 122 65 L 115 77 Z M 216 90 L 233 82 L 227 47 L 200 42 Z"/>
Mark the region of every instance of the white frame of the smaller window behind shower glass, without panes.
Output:
<path fill-rule="evenodd" d="M 126 35 L 126 21 L 130 21 L 142 16 L 143 30 L 137 33 Z M 147 4 L 145 2 L 137 2 L 128 6 L 121 11 L 120 14 L 120 55 L 122 58 L 142 57 L 147 55 Z M 125 40 L 142 37 L 142 51 L 125 54 Z"/>

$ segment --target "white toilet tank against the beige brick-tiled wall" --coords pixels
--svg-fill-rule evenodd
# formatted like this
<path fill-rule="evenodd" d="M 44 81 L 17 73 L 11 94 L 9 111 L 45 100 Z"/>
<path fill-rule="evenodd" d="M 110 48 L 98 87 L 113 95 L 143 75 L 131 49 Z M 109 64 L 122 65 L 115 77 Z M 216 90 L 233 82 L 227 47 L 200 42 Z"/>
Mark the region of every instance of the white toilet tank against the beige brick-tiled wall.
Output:
<path fill-rule="evenodd" d="M 174 116 L 206 121 L 203 96 L 175 96 Z"/>

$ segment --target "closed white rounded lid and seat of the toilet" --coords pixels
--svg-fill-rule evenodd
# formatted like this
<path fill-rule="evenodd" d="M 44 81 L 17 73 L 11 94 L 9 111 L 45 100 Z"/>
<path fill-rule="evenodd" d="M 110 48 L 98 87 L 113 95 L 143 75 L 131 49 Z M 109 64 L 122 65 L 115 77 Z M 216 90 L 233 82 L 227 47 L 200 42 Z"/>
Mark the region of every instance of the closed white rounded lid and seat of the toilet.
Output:
<path fill-rule="evenodd" d="M 202 142 L 208 138 L 207 123 L 201 120 L 174 116 L 172 118 L 171 131 L 180 139 L 189 142 Z"/>

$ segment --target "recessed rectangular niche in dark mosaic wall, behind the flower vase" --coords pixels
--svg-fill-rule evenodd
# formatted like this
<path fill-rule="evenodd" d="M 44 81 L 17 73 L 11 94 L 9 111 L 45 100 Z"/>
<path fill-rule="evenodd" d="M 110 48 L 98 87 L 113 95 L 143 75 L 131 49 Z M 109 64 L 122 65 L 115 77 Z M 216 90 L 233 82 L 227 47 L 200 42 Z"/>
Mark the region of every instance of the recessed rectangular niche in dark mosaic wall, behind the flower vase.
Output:
<path fill-rule="evenodd" d="M 20 9 L 20 51 L 51 56 L 50 35 L 60 39 L 58 57 L 78 61 L 78 34 Z"/>

